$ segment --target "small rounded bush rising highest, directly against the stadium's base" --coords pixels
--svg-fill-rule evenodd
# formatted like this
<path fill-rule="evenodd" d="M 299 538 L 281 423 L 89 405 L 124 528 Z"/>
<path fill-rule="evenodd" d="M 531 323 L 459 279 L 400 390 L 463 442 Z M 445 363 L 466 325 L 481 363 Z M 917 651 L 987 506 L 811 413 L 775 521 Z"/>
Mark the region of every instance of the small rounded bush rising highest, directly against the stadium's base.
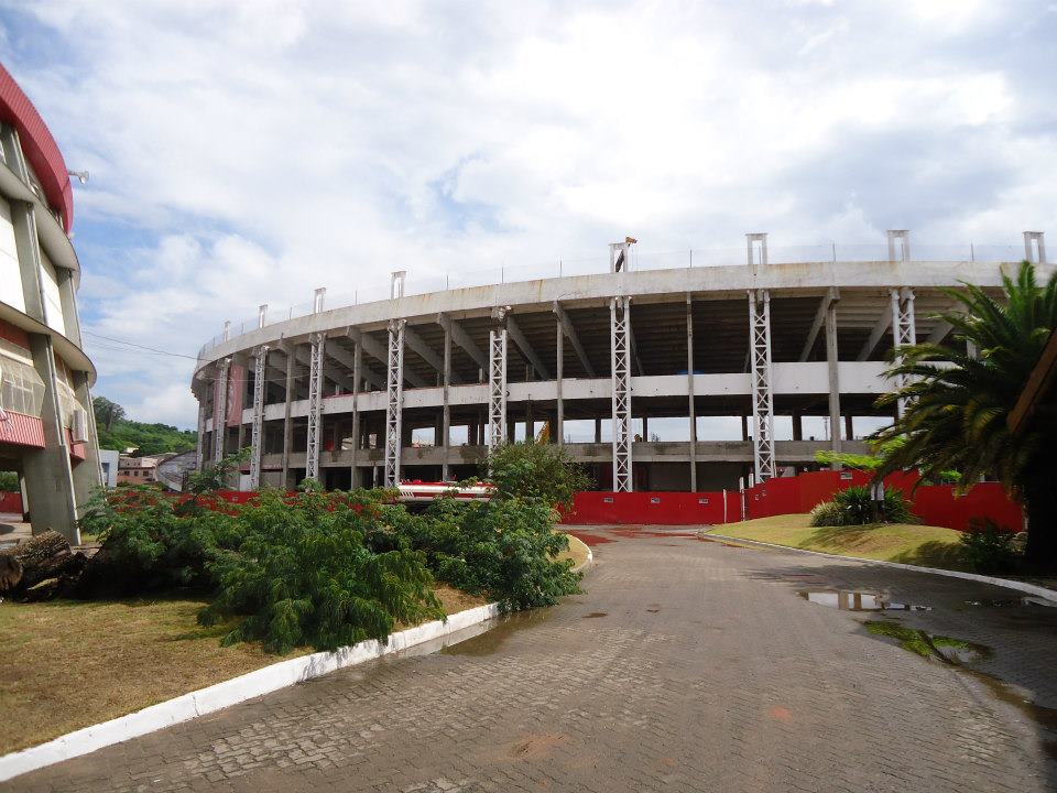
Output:
<path fill-rule="evenodd" d="M 482 475 L 494 482 L 501 499 L 536 498 L 559 507 L 571 506 L 573 495 L 591 485 L 565 447 L 532 439 L 501 444 L 489 454 Z"/>

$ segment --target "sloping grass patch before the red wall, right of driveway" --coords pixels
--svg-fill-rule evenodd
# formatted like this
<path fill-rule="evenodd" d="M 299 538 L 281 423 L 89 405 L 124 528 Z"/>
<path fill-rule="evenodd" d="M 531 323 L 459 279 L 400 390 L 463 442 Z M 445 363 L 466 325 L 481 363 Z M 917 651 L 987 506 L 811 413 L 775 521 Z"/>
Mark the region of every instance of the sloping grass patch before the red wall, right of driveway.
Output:
<path fill-rule="evenodd" d="M 775 515 L 728 523 L 711 531 L 843 556 L 967 569 L 958 544 L 961 532 L 954 529 L 906 523 L 813 529 L 809 520 L 807 514 Z"/>

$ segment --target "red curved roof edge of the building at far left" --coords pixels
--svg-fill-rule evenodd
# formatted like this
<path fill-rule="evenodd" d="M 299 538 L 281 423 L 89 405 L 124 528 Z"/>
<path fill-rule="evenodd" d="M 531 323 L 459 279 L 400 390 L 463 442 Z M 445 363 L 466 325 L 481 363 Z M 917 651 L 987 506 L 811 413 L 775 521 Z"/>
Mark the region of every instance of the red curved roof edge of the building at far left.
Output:
<path fill-rule="evenodd" d="M 63 227 L 69 233 L 74 226 L 74 191 L 69 185 L 66 161 L 48 131 L 44 119 L 22 93 L 19 84 L 0 64 L 0 121 L 19 131 L 25 159 L 40 180 L 47 203 L 63 216 Z"/>

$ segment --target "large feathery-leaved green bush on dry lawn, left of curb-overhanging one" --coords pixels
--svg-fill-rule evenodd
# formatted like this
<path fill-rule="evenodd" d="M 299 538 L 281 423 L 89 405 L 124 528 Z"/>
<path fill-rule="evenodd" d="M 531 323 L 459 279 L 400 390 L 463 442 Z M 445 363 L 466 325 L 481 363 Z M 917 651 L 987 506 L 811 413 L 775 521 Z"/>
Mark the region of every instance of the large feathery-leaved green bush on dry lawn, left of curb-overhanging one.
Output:
<path fill-rule="evenodd" d="M 306 490 L 293 498 L 263 491 L 241 510 L 246 537 L 238 553 L 209 564 L 219 593 L 199 621 L 244 615 L 225 643 L 260 639 L 265 650 L 284 653 L 384 641 L 397 622 L 444 617 L 424 554 L 367 546 L 367 535 L 379 530 L 377 499 L 364 491 Z"/>

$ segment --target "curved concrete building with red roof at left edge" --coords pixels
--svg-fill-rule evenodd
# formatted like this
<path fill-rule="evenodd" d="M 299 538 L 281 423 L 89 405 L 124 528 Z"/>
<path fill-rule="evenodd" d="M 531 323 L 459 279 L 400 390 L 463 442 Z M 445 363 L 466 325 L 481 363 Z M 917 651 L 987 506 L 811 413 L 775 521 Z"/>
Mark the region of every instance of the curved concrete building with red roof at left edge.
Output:
<path fill-rule="evenodd" d="M 76 543 L 101 469 L 73 192 L 55 140 L 2 66 L 0 143 L 0 470 L 18 471 L 34 533 L 55 529 Z"/>

